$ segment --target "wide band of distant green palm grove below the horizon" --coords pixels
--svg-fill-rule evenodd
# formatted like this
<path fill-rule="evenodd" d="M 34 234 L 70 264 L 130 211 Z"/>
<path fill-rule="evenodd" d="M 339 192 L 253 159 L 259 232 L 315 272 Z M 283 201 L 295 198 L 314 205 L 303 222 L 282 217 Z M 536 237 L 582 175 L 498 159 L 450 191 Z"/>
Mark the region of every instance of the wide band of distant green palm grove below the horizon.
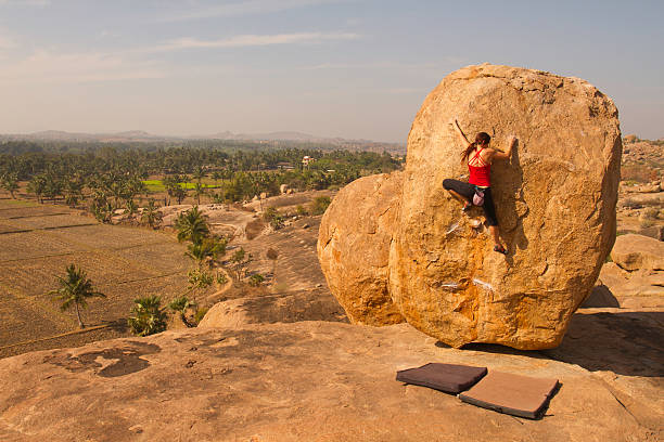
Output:
<path fill-rule="evenodd" d="M 39 202 L 86 203 L 103 221 L 110 218 L 107 211 L 127 207 L 141 195 L 165 192 L 168 205 L 181 204 L 190 193 L 197 204 L 204 197 L 233 203 L 264 192 L 277 195 L 281 184 L 299 191 L 339 188 L 401 165 L 387 153 L 301 146 L 5 141 L 0 142 L 0 185 L 13 195 L 20 182 L 27 182 L 27 191 Z M 304 156 L 316 161 L 304 168 Z"/>

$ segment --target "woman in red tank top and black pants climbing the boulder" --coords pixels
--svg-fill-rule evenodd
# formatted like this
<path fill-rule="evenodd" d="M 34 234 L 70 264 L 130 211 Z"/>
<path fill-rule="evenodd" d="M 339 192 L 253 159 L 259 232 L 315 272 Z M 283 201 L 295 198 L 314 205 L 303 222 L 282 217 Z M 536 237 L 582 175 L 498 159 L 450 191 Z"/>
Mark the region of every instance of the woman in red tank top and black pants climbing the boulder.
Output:
<path fill-rule="evenodd" d="M 443 180 L 443 187 L 452 194 L 455 198 L 463 203 L 462 210 L 464 212 L 470 210 L 473 204 L 475 206 L 482 206 L 484 216 L 486 217 L 486 224 L 494 238 L 494 250 L 507 255 L 507 249 L 500 244 L 499 238 L 496 208 L 494 207 L 494 198 L 491 197 L 490 171 L 494 159 L 510 159 L 512 147 L 516 144 L 516 138 L 510 136 L 508 151 L 500 152 L 489 148 L 488 144 L 491 138 L 488 133 L 477 133 L 475 141 L 471 143 L 465 138 L 465 134 L 456 119 L 452 120 L 450 125 L 452 125 L 461 142 L 465 146 L 465 151 L 461 154 L 461 162 L 468 164 L 470 179 L 468 183 L 459 180 Z"/>

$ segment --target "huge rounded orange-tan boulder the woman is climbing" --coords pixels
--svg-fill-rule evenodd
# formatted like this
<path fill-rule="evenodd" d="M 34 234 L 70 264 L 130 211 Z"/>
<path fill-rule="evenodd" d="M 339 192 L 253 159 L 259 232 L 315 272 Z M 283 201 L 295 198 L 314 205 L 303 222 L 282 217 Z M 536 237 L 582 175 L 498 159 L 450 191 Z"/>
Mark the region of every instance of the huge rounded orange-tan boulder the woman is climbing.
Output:
<path fill-rule="evenodd" d="M 519 139 L 491 168 L 508 257 L 443 188 L 468 173 L 455 117 L 496 147 Z M 614 242 L 621 150 L 614 104 L 582 79 L 486 64 L 447 76 L 408 138 L 391 247 L 390 291 L 408 323 L 455 347 L 558 346 Z"/>

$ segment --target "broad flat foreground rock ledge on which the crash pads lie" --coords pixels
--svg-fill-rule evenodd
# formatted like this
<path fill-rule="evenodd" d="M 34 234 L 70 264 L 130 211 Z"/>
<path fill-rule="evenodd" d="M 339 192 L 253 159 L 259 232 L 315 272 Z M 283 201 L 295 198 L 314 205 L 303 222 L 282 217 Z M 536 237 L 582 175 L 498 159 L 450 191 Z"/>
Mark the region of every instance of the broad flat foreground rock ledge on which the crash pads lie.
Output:
<path fill-rule="evenodd" d="M 606 347 L 588 339 L 600 325 L 615 333 L 604 323 L 617 316 L 598 314 L 577 314 L 583 333 L 575 336 L 573 321 L 572 338 L 548 356 L 490 344 L 457 350 L 407 324 L 327 322 L 167 332 L 22 354 L 0 360 L 0 440 L 655 441 L 664 410 L 654 377 L 661 327 L 639 317 L 655 341 L 609 336 Z M 620 321 L 634 328 L 637 320 Z M 651 365 L 636 376 L 629 367 L 643 358 Z M 395 380 L 396 370 L 426 362 L 554 377 L 562 388 L 541 420 L 526 420 Z"/>

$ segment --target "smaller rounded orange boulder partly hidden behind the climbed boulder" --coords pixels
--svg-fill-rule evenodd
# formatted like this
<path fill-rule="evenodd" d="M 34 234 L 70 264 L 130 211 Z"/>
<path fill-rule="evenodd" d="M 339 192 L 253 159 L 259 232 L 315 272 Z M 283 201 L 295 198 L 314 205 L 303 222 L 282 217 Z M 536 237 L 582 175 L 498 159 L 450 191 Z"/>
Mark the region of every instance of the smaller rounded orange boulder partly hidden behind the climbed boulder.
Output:
<path fill-rule="evenodd" d="M 320 266 L 330 290 L 356 324 L 404 321 L 387 288 L 401 181 L 401 172 L 354 181 L 334 197 L 320 223 Z"/>

